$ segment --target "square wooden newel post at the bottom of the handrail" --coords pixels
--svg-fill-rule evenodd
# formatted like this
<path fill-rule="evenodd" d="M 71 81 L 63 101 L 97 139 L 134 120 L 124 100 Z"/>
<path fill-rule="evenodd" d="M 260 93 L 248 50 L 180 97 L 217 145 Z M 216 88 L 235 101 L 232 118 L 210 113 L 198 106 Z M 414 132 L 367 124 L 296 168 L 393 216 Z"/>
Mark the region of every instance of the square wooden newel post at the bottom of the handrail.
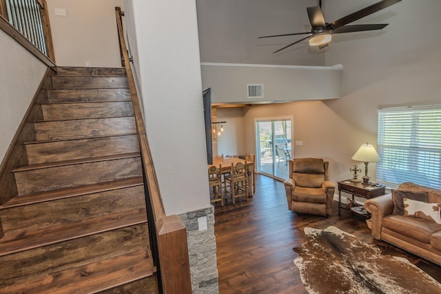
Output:
<path fill-rule="evenodd" d="M 164 293 L 192 293 L 185 224 L 176 215 L 166 216 L 156 222 L 156 232 Z"/>

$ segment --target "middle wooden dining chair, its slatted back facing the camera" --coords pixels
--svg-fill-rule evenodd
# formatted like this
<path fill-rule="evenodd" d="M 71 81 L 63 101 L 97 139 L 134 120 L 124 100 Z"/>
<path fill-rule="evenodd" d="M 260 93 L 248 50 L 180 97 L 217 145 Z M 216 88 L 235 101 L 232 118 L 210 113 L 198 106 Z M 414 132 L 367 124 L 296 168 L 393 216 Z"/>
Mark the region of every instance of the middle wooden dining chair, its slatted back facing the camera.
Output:
<path fill-rule="evenodd" d="M 248 200 L 247 179 L 247 161 L 245 164 L 242 162 L 232 164 L 231 173 L 225 176 L 225 193 L 232 195 L 233 204 L 236 204 L 236 198 L 245 197 L 245 201 Z"/>

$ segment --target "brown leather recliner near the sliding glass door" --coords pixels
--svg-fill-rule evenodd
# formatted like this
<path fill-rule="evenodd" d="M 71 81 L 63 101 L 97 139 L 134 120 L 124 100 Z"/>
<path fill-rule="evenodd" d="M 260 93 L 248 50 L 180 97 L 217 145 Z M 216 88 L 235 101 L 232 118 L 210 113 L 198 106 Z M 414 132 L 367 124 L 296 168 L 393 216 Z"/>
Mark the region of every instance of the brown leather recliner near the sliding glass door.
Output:
<path fill-rule="evenodd" d="M 329 181 L 329 162 L 322 158 L 289 160 L 289 179 L 285 180 L 288 208 L 298 213 L 329 216 L 336 185 Z"/>

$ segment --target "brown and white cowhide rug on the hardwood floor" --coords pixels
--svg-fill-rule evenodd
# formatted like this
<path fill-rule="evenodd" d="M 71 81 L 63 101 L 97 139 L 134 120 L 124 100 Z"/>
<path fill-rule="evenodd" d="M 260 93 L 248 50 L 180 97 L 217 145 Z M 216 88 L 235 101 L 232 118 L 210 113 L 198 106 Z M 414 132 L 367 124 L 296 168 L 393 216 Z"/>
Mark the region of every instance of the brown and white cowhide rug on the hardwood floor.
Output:
<path fill-rule="evenodd" d="M 441 293 L 441 284 L 404 258 L 384 255 L 336 227 L 305 228 L 294 260 L 310 294 Z"/>

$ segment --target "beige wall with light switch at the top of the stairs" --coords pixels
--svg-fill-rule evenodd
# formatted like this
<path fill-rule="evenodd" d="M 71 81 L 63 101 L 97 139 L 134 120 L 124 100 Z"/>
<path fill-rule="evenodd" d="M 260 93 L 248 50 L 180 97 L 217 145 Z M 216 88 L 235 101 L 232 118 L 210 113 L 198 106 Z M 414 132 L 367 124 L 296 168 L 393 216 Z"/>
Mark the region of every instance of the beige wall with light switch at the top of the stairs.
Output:
<path fill-rule="evenodd" d="M 48 0 L 57 65 L 121 67 L 115 6 L 122 0 Z M 64 8 L 66 17 L 55 15 Z"/>

